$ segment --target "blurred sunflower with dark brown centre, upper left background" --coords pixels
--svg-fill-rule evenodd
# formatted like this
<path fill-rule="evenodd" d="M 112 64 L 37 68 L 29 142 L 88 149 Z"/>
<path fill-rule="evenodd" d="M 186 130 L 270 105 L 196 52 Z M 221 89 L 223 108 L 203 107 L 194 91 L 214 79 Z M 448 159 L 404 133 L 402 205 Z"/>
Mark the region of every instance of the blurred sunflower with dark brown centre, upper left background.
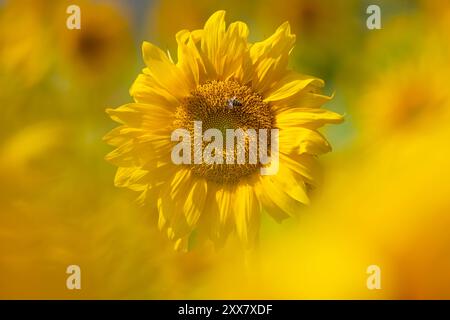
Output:
<path fill-rule="evenodd" d="M 62 1 L 57 8 L 65 12 L 70 4 Z M 81 1 L 78 6 L 82 8 L 79 30 L 54 28 L 58 31 L 55 40 L 61 50 L 59 65 L 77 86 L 110 84 L 133 66 L 129 13 L 125 7 L 101 2 Z M 65 25 L 66 18 L 58 15 L 55 24 Z"/>

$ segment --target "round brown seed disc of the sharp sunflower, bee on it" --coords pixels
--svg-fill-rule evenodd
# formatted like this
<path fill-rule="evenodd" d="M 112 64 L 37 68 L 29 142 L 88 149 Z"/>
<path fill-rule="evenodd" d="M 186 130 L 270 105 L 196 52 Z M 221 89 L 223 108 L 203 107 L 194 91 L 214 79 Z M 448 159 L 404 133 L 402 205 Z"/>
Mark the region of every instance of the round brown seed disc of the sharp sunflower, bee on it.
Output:
<path fill-rule="evenodd" d="M 239 137 L 236 136 L 236 140 L 233 137 L 233 143 L 236 141 L 235 147 L 230 149 L 225 147 L 224 143 L 220 146 L 222 148 L 220 151 L 224 159 L 230 156 L 238 159 L 239 156 L 245 155 L 246 161 L 191 164 L 190 169 L 195 175 L 220 184 L 234 184 L 243 177 L 256 173 L 263 165 L 260 160 L 249 161 L 252 158 L 250 153 L 258 152 L 259 149 L 252 149 L 251 141 L 254 140 L 254 136 L 248 133 L 258 134 L 261 132 L 260 129 L 266 129 L 267 150 L 270 150 L 270 129 L 275 128 L 275 115 L 270 105 L 251 88 L 235 81 L 211 81 L 199 85 L 178 107 L 174 125 L 176 128 L 188 130 L 191 136 L 194 136 L 195 126 L 199 123 L 202 134 L 207 130 L 210 131 L 209 129 L 216 129 L 221 132 L 224 139 L 229 138 L 230 131 L 238 132 L 241 129 L 244 138 L 239 141 Z M 229 141 L 226 144 L 228 143 Z M 201 149 L 202 154 L 209 145 L 204 140 L 197 144 L 201 144 L 197 147 Z M 195 147 L 194 141 L 192 148 Z M 258 145 L 257 148 L 259 147 Z M 242 154 L 239 155 L 239 152 Z M 213 156 L 214 153 L 213 151 Z"/>

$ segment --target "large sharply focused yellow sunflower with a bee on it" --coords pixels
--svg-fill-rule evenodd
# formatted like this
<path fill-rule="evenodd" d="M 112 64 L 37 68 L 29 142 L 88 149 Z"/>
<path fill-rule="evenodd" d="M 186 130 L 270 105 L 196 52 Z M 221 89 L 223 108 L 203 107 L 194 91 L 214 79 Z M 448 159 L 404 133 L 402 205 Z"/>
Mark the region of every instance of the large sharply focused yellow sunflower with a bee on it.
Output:
<path fill-rule="evenodd" d="M 121 124 L 105 136 L 116 147 L 106 156 L 118 166 L 115 185 L 154 204 L 175 249 L 186 250 L 194 240 L 220 245 L 232 232 L 250 248 L 263 211 L 277 221 L 301 211 L 317 185 L 316 157 L 331 150 L 318 129 L 343 120 L 321 109 L 331 99 L 320 93 L 322 80 L 288 69 L 295 43 L 288 22 L 249 43 L 247 25 L 226 28 L 224 18 L 225 11 L 217 11 L 203 29 L 178 32 L 177 62 L 144 42 L 146 68 L 131 87 L 134 102 L 107 109 Z M 278 171 L 261 174 L 260 161 L 175 164 L 172 133 L 192 132 L 196 121 L 202 130 L 279 130 Z M 196 146 L 205 151 L 209 145 Z M 244 150 L 247 159 L 247 144 Z"/>

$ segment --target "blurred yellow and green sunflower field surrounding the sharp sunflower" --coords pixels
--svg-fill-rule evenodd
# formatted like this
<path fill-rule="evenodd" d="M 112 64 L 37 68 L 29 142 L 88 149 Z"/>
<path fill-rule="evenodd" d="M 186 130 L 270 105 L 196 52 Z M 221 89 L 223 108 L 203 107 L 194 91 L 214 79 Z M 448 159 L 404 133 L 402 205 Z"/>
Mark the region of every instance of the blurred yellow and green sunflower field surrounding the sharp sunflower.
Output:
<path fill-rule="evenodd" d="M 175 33 L 218 9 L 252 41 L 289 21 L 292 67 L 325 79 L 346 122 L 326 129 L 312 205 L 265 216 L 258 250 L 179 253 L 113 186 L 104 110 L 130 101 L 142 41 L 174 55 Z M 446 0 L 0 1 L 0 298 L 450 298 L 449 35 Z M 81 290 L 66 289 L 71 264 Z"/>

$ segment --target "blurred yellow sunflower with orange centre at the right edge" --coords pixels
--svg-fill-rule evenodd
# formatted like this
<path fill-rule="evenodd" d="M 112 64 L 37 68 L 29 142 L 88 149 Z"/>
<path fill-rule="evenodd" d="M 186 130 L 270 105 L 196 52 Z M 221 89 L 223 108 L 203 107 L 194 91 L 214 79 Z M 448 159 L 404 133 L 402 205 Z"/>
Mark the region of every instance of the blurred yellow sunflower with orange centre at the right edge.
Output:
<path fill-rule="evenodd" d="M 436 55 L 422 55 L 385 71 L 367 85 L 360 97 L 361 130 L 380 140 L 395 134 L 415 135 L 448 119 L 446 77 L 435 68 L 450 70 Z"/>

